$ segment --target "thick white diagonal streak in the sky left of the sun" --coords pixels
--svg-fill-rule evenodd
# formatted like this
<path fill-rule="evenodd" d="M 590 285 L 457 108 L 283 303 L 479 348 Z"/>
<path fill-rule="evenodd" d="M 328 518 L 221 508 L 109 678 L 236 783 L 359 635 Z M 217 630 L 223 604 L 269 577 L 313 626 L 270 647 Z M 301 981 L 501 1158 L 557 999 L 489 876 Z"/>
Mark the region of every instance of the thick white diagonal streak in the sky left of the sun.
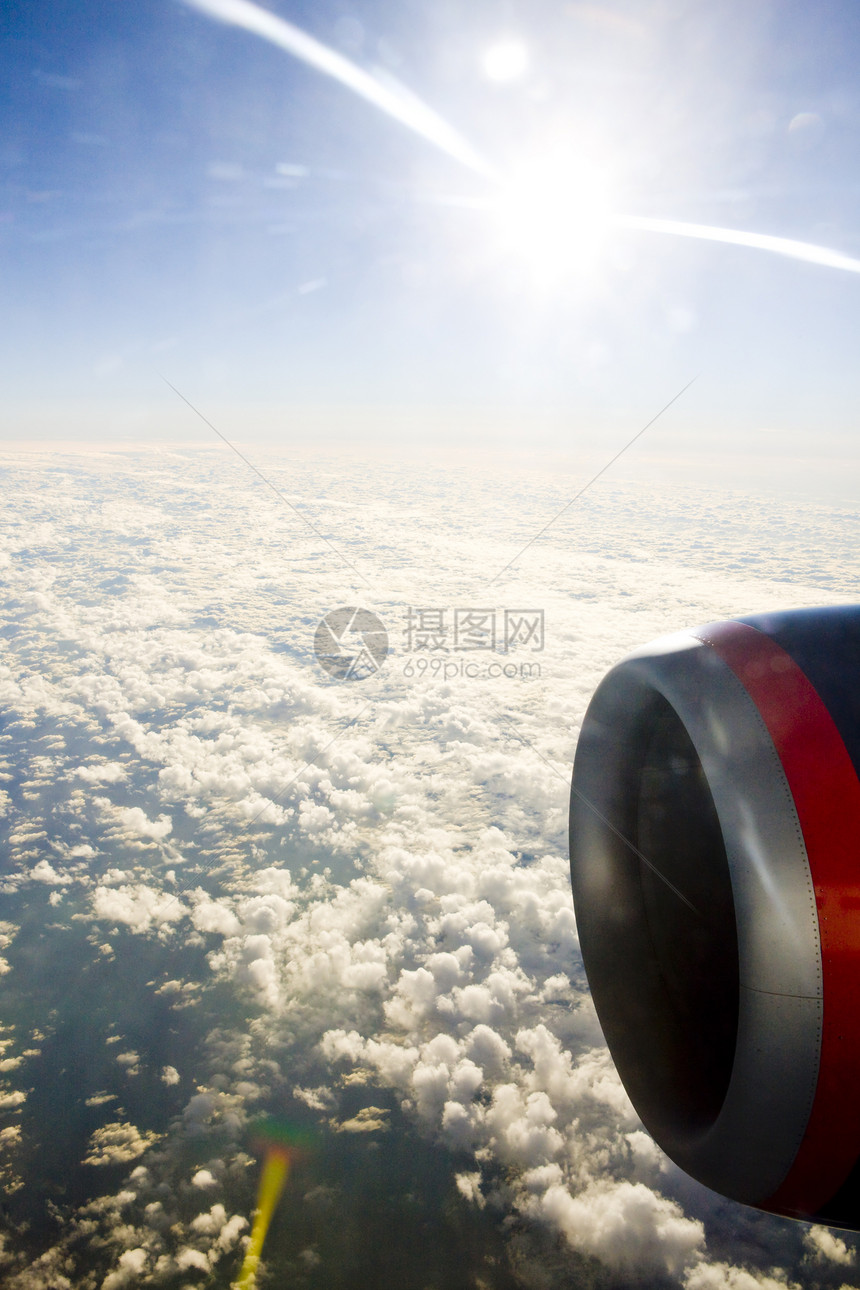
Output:
<path fill-rule="evenodd" d="M 455 161 L 460 161 L 487 179 L 496 178 L 496 172 L 467 141 L 458 134 L 453 125 L 449 125 L 432 107 L 428 107 L 416 94 L 413 94 L 405 85 L 393 81 L 383 81 L 371 75 L 349 58 L 344 58 L 335 49 L 324 45 L 321 40 L 308 36 L 300 27 L 294 27 L 285 18 L 260 9 L 251 0 L 184 0 L 192 9 L 217 18 L 219 22 L 232 23 L 235 27 L 244 27 L 253 31 L 255 36 L 262 36 L 272 45 L 285 49 L 288 54 L 300 58 L 309 67 L 340 81 L 347 89 L 369 103 L 393 116 L 396 121 L 406 125 L 410 130 L 420 134 L 435 143 L 442 152 L 447 152 Z"/>

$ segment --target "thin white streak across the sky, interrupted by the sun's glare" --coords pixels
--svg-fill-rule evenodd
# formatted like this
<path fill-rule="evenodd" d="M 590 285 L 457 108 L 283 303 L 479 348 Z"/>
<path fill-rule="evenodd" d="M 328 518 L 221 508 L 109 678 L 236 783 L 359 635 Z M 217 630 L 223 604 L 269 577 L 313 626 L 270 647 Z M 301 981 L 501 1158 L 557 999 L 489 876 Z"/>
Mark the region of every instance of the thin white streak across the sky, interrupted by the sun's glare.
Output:
<path fill-rule="evenodd" d="M 344 58 L 337 49 L 308 36 L 300 27 L 285 18 L 262 9 L 253 0 L 183 0 L 191 9 L 199 9 L 210 18 L 244 27 L 269 44 L 285 49 L 288 54 L 299 58 L 308 67 L 331 76 L 351 89 L 353 94 L 373 103 L 382 112 L 414 130 L 428 143 L 441 148 L 447 156 L 467 166 L 474 174 L 494 183 L 500 181 L 499 172 L 481 156 L 472 144 L 459 134 L 453 125 L 428 107 L 416 94 L 391 77 L 384 80 L 358 67 Z M 753 250 L 766 250 L 789 259 L 805 261 L 808 264 L 821 264 L 825 268 L 838 268 L 848 273 L 860 273 L 860 261 L 843 255 L 828 246 L 796 241 L 792 237 L 774 237 L 771 233 L 747 232 L 740 228 L 717 228 L 712 224 L 691 224 L 681 219 L 652 219 L 649 215 L 612 215 L 611 222 L 619 228 L 634 228 L 647 233 L 668 233 L 672 237 L 698 237 L 703 241 L 726 243 L 730 246 L 750 246 Z"/>

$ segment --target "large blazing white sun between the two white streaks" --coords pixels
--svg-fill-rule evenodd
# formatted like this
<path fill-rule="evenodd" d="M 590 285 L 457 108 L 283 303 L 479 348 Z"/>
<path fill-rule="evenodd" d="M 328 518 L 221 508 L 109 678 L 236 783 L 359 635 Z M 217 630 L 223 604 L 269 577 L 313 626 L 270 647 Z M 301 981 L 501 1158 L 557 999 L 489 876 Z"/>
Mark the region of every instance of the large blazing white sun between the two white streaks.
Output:
<path fill-rule="evenodd" d="M 547 157 L 511 174 L 495 203 L 500 249 L 539 284 L 597 270 L 612 222 L 606 172 L 589 159 Z"/>

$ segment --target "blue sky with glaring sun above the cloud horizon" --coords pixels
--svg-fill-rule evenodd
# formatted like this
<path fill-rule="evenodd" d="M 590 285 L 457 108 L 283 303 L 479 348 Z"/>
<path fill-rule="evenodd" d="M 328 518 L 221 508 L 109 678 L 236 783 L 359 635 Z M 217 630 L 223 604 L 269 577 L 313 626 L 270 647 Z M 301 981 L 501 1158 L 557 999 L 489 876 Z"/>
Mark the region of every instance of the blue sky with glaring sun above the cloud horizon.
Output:
<path fill-rule="evenodd" d="M 272 409 L 458 409 L 481 446 L 496 412 L 551 413 L 549 446 L 600 455 L 700 373 L 655 449 L 845 475 L 860 275 L 609 217 L 860 255 L 854 5 L 272 8 L 407 85 L 500 186 L 179 0 L 6 5 L 10 439 L 170 437 L 161 373 L 251 435 Z M 493 79 L 505 40 L 523 66 Z"/>

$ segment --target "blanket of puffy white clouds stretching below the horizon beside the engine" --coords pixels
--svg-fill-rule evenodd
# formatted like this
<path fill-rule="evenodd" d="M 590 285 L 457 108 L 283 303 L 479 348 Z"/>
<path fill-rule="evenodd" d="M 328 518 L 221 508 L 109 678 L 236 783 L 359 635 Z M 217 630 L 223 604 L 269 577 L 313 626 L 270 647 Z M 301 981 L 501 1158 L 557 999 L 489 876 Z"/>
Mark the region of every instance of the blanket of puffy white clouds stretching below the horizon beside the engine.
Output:
<path fill-rule="evenodd" d="M 231 458 L 15 468 L 8 1284 L 115 1290 L 226 1268 L 253 1207 L 248 1126 L 276 1113 L 347 1153 L 340 1174 L 312 1166 L 300 1213 L 317 1226 L 299 1223 L 300 1247 L 273 1233 L 276 1275 L 325 1284 L 343 1161 L 382 1161 L 391 1180 L 413 1142 L 435 1153 L 450 1213 L 504 1251 L 481 1265 L 487 1285 L 583 1269 L 686 1290 L 851 1285 L 852 1238 L 716 1201 L 643 1133 L 588 996 L 565 832 L 606 667 L 685 624 L 850 599 L 838 516 L 810 506 L 788 529 L 776 504 L 615 488 L 493 592 L 499 610 L 544 609 L 539 673 L 410 676 L 407 608 L 489 602 L 560 481 L 267 468 L 373 570 L 393 645 L 378 676 L 339 686 L 316 667 L 316 623 L 356 602 L 353 574 Z M 75 1182 L 34 1256 L 23 1233 L 52 1151 Z"/>

